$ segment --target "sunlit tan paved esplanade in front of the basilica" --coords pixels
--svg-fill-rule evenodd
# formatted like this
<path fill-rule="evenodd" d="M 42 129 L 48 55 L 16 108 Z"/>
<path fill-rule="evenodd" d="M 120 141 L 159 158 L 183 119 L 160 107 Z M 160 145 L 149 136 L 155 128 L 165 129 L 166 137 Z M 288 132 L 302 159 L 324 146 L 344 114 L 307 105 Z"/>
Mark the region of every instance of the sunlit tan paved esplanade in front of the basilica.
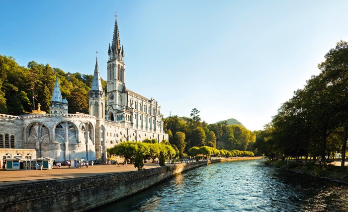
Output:
<path fill-rule="evenodd" d="M 145 169 L 151 169 L 159 167 L 158 164 L 148 163 L 144 164 Z M 68 168 L 68 166 L 62 166 L 61 169 L 56 169 L 54 166 L 53 169 L 49 170 L 11 170 L 11 171 L 0 171 L 0 186 L 3 185 L 3 181 L 6 181 L 6 185 L 14 183 L 25 183 L 34 181 L 34 180 L 44 180 L 52 178 L 69 178 L 69 177 L 86 177 L 86 176 L 95 176 L 101 174 L 113 174 L 117 172 L 126 172 L 126 171 L 137 171 L 137 168 L 134 167 L 134 164 L 128 164 L 127 166 L 117 165 L 105 165 L 98 164 L 88 168 Z"/>

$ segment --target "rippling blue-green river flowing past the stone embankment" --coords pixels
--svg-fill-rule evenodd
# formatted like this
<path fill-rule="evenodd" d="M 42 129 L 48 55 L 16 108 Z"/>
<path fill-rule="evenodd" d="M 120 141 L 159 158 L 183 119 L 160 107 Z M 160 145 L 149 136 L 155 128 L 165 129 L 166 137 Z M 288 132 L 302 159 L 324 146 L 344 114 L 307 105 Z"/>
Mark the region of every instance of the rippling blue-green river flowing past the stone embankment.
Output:
<path fill-rule="evenodd" d="M 95 211 L 348 212 L 347 185 L 285 172 L 263 162 L 202 166 Z"/>

